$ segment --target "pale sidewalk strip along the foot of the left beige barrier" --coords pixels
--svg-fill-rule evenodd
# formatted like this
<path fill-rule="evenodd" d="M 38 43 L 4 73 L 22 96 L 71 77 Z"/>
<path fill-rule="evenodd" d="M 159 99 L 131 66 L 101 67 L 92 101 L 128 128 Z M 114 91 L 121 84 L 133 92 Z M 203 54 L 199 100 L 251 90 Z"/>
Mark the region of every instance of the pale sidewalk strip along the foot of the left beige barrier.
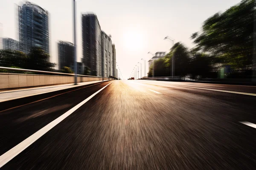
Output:
<path fill-rule="evenodd" d="M 108 81 L 108 80 L 104 80 Z M 5 102 L 13 99 L 19 99 L 28 96 L 34 96 L 38 94 L 49 93 L 52 91 L 59 91 L 68 88 L 79 87 L 82 85 L 90 85 L 97 82 L 104 82 L 102 80 L 99 81 L 90 81 L 90 82 L 81 82 L 78 85 L 72 84 L 64 84 L 64 85 L 52 85 L 52 86 L 43 86 L 37 88 L 23 88 L 17 90 L 8 90 L 8 91 L 0 91 L 0 102 Z"/>

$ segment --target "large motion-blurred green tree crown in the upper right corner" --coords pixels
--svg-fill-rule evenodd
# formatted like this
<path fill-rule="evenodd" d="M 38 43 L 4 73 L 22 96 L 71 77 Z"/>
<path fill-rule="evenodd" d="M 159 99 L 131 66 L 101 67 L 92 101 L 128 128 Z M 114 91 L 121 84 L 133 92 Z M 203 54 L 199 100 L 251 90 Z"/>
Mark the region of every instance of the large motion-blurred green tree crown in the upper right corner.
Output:
<path fill-rule="evenodd" d="M 197 48 L 210 53 L 222 66 L 239 69 L 252 65 L 255 7 L 255 0 L 243 0 L 224 13 L 209 17 L 201 34 L 192 34 Z"/>

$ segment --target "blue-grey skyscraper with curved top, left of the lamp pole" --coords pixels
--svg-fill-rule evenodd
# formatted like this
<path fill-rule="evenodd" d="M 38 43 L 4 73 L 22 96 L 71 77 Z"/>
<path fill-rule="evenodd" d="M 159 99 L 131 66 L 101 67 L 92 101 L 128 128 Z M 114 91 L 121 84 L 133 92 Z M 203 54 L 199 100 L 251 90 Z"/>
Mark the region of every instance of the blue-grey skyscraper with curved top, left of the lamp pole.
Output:
<path fill-rule="evenodd" d="M 26 54 L 32 47 L 40 47 L 49 54 L 48 11 L 26 2 L 18 6 L 20 47 Z"/>

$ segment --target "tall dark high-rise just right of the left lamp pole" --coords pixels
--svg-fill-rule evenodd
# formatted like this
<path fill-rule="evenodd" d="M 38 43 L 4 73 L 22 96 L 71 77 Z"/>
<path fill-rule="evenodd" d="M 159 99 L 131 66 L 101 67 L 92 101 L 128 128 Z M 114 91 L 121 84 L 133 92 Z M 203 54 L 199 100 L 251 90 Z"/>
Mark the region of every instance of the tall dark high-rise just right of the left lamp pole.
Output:
<path fill-rule="evenodd" d="M 95 14 L 82 14 L 82 48 L 82 62 L 90 75 L 102 76 L 102 35 Z"/>

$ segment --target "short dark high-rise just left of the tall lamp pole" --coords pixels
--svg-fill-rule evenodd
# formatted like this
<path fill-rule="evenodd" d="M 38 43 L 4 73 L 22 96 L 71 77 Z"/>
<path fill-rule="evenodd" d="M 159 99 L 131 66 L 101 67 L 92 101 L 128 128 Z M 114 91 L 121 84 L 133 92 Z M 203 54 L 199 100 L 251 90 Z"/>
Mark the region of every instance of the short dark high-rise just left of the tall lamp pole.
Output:
<path fill-rule="evenodd" d="M 74 44 L 71 42 L 58 42 L 58 69 L 71 67 L 74 62 Z"/>

